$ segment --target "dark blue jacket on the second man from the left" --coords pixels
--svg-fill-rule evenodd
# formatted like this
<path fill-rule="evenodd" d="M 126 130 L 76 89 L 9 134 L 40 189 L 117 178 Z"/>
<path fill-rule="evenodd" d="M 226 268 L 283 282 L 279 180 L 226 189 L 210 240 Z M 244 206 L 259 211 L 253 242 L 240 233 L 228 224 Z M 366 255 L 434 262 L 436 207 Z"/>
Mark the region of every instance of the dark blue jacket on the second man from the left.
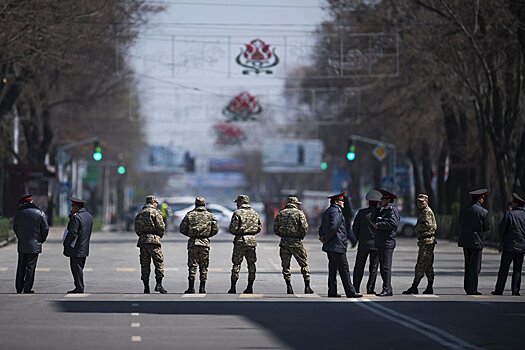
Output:
<path fill-rule="evenodd" d="M 68 234 L 64 240 L 64 255 L 69 257 L 85 258 L 89 255 L 89 240 L 93 229 L 93 217 L 86 209 L 81 208 L 69 216 L 67 224 Z M 71 247 L 71 243 L 76 243 Z"/>

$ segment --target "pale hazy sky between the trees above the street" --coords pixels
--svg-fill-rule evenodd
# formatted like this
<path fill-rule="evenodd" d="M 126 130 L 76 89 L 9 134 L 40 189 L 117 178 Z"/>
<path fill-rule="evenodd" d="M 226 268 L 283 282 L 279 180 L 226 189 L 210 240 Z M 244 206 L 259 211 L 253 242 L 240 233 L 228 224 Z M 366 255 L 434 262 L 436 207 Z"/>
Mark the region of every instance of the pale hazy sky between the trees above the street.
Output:
<path fill-rule="evenodd" d="M 148 140 L 196 153 L 213 147 L 211 126 L 224 120 L 221 110 L 237 93 L 248 91 L 274 105 L 282 100 L 286 71 L 308 63 L 312 31 L 326 19 L 321 0 L 151 2 L 166 11 L 151 18 L 129 52 Z M 256 38 L 276 48 L 280 63 L 272 75 L 242 75 L 235 63 L 244 44 Z M 286 113 L 269 111 L 262 117 Z M 254 135 L 260 129 L 257 123 L 246 127 Z"/>

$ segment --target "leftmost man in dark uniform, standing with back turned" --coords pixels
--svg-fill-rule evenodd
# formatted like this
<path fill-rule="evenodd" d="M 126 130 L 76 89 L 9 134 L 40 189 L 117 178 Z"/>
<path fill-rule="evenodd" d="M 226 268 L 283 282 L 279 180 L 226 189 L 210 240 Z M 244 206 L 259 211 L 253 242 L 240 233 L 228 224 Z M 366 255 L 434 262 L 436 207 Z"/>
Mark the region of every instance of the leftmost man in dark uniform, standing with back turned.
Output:
<path fill-rule="evenodd" d="M 13 218 L 13 230 L 18 240 L 15 287 L 17 293 L 34 293 L 36 262 L 38 254 L 42 253 L 49 226 L 46 214 L 33 203 L 32 195 L 22 196 L 18 204 Z"/>

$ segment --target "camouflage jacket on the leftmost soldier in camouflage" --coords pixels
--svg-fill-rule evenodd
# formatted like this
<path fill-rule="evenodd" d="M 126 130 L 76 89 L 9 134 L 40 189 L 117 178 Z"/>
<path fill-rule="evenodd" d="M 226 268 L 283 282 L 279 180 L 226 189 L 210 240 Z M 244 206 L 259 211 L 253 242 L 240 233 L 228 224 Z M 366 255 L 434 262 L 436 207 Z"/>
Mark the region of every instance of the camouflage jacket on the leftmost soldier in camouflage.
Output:
<path fill-rule="evenodd" d="M 165 231 L 162 214 L 152 204 L 146 203 L 142 211 L 135 216 L 135 233 L 139 236 L 137 247 L 143 244 L 160 246 L 160 239 Z"/>

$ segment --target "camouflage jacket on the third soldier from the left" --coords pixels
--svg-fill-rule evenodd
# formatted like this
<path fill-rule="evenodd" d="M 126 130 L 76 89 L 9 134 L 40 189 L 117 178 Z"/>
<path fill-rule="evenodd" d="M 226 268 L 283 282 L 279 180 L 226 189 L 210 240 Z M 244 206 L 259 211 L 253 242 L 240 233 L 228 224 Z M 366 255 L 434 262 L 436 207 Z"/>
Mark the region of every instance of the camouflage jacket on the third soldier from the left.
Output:
<path fill-rule="evenodd" d="M 239 209 L 233 212 L 230 232 L 235 235 L 234 244 L 255 247 L 257 245 L 255 235 L 261 232 L 261 228 L 259 214 L 249 204 L 242 204 Z"/>

